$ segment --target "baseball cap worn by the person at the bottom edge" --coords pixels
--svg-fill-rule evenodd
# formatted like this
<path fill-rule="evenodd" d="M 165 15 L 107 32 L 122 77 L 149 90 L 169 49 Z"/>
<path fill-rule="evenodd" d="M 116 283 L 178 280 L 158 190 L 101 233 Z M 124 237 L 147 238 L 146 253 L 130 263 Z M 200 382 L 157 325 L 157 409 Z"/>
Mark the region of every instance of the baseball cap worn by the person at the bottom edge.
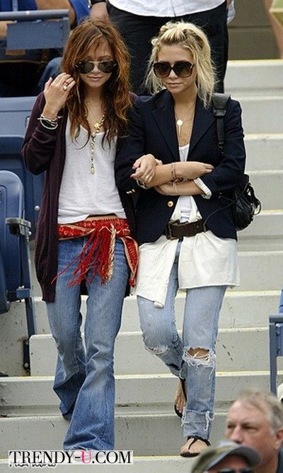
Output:
<path fill-rule="evenodd" d="M 192 473 L 203 473 L 207 469 L 215 467 L 221 460 L 229 455 L 239 455 L 245 458 L 250 467 L 255 467 L 261 462 L 260 454 L 248 445 L 238 445 L 234 442 L 221 442 L 216 448 L 208 447 L 202 451 L 195 465 L 192 467 Z"/>

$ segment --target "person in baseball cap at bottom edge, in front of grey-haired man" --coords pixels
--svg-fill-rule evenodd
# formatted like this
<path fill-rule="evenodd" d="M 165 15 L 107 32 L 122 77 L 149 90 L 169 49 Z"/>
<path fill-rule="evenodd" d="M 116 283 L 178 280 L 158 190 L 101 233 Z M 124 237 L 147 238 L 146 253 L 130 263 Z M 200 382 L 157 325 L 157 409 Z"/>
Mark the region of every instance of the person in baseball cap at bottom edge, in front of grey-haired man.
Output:
<path fill-rule="evenodd" d="M 197 458 L 192 473 L 253 473 L 251 467 L 260 463 L 260 455 L 253 448 L 234 442 L 206 448 Z"/>

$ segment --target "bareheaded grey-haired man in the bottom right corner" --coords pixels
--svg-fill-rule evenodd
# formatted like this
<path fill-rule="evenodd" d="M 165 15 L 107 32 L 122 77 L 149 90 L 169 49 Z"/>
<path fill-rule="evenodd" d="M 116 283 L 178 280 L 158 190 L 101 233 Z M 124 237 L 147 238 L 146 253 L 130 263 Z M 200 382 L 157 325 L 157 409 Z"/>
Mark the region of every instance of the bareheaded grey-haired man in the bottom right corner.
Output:
<path fill-rule="evenodd" d="M 272 393 L 243 392 L 228 411 L 226 437 L 260 452 L 255 473 L 283 473 L 283 405 Z"/>

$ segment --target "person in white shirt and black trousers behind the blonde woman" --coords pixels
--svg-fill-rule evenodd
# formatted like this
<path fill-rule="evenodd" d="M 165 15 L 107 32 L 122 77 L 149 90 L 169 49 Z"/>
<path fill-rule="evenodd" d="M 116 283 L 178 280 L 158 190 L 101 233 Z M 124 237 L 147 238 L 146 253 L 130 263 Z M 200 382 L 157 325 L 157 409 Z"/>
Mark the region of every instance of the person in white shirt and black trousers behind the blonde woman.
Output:
<path fill-rule="evenodd" d="M 207 34 L 216 66 L 216 90 L 224 91 L 228 60 L 227 8 L 231 0 L 160 1 L 90 0 L 94 18 L 109 18 L 124 37 L 131 56 L 130 78 L 135 93 L 147 93 L 144 75 L 151 54 L 151 38 L 168 21 L 186 21 Z"/>

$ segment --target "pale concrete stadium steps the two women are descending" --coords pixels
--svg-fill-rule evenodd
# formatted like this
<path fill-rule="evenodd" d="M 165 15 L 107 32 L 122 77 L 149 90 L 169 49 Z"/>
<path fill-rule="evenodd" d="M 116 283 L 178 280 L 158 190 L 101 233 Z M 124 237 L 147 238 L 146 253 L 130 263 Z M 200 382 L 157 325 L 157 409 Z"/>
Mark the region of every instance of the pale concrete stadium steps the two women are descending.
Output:
<path fill-rule="evenodd" d="M 226 92 L 243 108 L 247 171 L 262 212 L 239 233 L 241 287 L 227 291 L 221 310 L 212 443 L 223 438 L 226 411 L 239 391 L 270 387 L 268 317 L 277 313 L 283 285 L 282 78 L 279 60 L 232 61 L 226 76 Z M 0 378 L 0 473 L 8 472 L 8 450 L 60 450 L 68 425 L 52 392 L 56 350 L 36 281 L 34 286 L 37 334 L 30 340 L 30 375 L 21 368 L 23 306 L 13 303 L 10 313 L 0 316 L 0 368 L 9 374 Z M 183 302 L 180 293 L 179 328 Z M 125 300 L 115 373 L 116 448 L 134 450 L 129 471 L 189 473 L 192 460 L 178 456 L 183 436 L 180 419 L 173 413 L 177 382 L 161 361 L 144 350 L 134 297 Z M 282 374 L 280 366 L 279 382 Z M 110 467 L 103 465 L 103 471 Z M 115 472 L 124 471 L 122 467 L 115 465 Z M 74 473 L 85 471 L 84 465 L 72 468 Z M 67 469 L 62 465 L 56 471 Z"/>

